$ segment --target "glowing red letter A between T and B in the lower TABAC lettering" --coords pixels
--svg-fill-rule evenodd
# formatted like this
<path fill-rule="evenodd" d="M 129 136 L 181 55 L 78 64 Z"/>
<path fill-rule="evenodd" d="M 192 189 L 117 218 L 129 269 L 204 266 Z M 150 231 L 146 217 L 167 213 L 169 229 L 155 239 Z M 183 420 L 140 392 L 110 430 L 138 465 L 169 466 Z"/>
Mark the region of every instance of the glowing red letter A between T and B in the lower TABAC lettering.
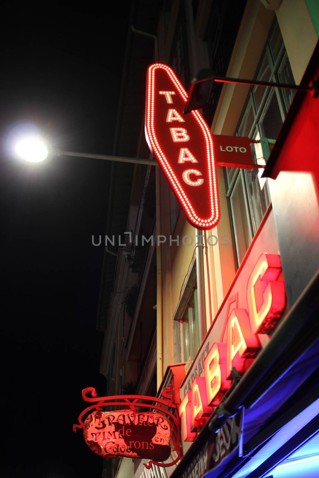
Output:
<path fill-rule="evenodd" d="M 212 407 L 207 404 L 206 380 L 204 377 L 195 377 L 192 383 L 192 407 L 190 429 L 198 432 L 205 423 L 205 417 L 212 413 Z"/>

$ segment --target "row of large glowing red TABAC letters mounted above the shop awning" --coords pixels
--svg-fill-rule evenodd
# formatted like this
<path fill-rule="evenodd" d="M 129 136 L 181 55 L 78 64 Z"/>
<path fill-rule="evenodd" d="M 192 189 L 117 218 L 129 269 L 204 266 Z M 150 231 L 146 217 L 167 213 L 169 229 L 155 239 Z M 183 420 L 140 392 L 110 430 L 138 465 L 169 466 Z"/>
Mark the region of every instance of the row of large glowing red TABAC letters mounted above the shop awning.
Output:
<path fill-rule="evenodd" d="M 270 334 L 286 306 L 285 284 L 278 254 L 261 254 L 247 281 L 248 309 L 242 298 L 229 300 L 222 341 L 204 342 L 201 359 L 193 364 L 191 383 L 184 382 L 179 406 L 184 441 L 193 441 L 212 411 L 231 386 L 233 367 L 242 375 L 262 348 L 258 334 Z M 199 355 L 200 356 L 200 355 Z M 196 363 L 197 362 L 197 363 Z"/>

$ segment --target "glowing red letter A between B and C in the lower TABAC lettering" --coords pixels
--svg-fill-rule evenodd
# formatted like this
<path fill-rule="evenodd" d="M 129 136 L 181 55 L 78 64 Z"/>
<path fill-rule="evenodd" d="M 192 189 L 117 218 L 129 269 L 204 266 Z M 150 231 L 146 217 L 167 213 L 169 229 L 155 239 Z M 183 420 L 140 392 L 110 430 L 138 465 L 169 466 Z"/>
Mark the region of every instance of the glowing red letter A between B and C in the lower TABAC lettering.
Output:
<path fill-rule="evenodd" d="M 242 373 L 245 359 L 255 357 L 260 347 L 246 309 L 233 309 L 227 321 L 227 378 L 233 367 Z"/>

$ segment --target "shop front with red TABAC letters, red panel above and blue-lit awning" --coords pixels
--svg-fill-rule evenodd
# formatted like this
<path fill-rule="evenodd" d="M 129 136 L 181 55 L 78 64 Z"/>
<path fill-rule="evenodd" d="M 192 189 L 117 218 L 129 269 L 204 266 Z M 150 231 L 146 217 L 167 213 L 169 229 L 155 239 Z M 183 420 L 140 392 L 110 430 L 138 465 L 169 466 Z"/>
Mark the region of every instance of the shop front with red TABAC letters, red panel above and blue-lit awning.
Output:
<path fill-rule="evenodd" d="M 173 478 L 318 476 L 318 101 L 294 98 L 264 172 L 272 205 L 181 383 Z"/>

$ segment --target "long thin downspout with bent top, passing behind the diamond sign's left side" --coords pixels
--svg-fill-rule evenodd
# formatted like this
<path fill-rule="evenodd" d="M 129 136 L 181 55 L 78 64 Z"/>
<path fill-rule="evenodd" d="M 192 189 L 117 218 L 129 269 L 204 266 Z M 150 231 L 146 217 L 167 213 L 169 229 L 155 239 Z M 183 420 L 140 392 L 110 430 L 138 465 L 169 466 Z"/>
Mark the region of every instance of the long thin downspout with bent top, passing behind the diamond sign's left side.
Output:
<path fill-rule="evenodd" d="M 131 25 L 133 33 L 148 36 L 154 39 L 154 59 L 158 62 L 157 36 L 152 33 L 136 30 Z M 159 168 L 155 168 L 155 191 L 156 191 L 156 236 L 161 234 L 161 183 Z M 163 313 L 162 313 L 162 249 L 156 239 L 156 376 L 157 390 L 163 380 Z"/>

